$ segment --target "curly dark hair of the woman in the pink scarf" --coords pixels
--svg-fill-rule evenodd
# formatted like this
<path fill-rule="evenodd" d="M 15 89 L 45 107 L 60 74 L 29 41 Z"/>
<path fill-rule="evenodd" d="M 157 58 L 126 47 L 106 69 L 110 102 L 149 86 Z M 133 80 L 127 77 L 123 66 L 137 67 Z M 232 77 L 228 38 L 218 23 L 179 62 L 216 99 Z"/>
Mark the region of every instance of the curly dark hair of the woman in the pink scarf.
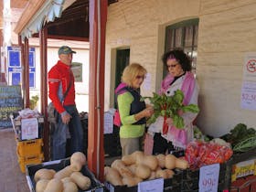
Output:
<path fill-rule="evenodd" d="M 187 56 L 182 48 L 175 48 L 166 52 L 162 57 L 165 65 L 167 65 L 168 59 L 176 59 L 184 71 L 190 71 L 192 69 L 191 59 Z"/>

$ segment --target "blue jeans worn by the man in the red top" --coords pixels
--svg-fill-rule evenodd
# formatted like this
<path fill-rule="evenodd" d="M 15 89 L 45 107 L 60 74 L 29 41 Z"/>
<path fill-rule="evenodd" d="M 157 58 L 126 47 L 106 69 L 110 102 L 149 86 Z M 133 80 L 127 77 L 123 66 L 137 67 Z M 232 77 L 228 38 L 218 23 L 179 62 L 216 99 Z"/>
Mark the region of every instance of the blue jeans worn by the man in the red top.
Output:
<path fill-rule="evenodd" d="M 72 116 L 67 124 L 62 123 L 61 116 L 58 117 L 58 125 L 52 135 L 52 160 L 63 159 L 66 157 L 66 144 L 68 132 L 70 133 L 69 149 L 72 155 L 75 152 L 82 152 L 83 149 L 83 131 L 80 123 L 80 115 L 76 105 L 64 106 L 67 112 Z M 69 129 L 69 130 L 68 130 Z"/>

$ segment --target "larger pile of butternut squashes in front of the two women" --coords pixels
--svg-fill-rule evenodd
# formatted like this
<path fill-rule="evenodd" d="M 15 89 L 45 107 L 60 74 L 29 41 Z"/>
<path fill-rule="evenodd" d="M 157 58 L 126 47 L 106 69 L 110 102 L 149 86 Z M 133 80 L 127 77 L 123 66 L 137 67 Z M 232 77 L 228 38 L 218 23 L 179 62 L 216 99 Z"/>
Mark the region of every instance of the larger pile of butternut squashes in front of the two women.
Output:
<path fill-rule="evenodd" d="M 133 187 L 148 179 L 171 178 L 175 175 L 175 168 L 187 169 L 188 162 L 171 154 L 144 155 L 136 151 L 114 160 L 111 166 L 105 166 L 104 176 L 113 186 Z"/>

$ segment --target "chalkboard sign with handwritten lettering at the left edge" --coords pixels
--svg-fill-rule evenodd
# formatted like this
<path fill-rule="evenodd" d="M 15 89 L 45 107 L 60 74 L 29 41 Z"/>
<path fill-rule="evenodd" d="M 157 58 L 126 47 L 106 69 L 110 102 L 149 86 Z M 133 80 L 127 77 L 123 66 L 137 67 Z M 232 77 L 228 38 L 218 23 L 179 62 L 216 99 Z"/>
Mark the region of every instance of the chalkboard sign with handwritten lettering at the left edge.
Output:
<path fill-rule="evenodd" d="M 0 86 L 0 129 L 12 127 L 10 114 L 22 109 L 21 87 Z"/>

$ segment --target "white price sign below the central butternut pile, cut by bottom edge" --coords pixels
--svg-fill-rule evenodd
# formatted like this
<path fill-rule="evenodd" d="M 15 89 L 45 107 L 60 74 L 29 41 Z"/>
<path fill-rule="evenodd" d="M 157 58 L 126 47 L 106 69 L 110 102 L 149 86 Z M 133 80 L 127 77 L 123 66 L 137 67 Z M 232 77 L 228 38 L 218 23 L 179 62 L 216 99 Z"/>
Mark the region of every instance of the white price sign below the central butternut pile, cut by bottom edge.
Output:
<path fill-rule="evenodd" d="M 144 181 L 138 184 L 138 192 L 158 192 L 158 191 L 164 191 L 163 178 Z"/>

